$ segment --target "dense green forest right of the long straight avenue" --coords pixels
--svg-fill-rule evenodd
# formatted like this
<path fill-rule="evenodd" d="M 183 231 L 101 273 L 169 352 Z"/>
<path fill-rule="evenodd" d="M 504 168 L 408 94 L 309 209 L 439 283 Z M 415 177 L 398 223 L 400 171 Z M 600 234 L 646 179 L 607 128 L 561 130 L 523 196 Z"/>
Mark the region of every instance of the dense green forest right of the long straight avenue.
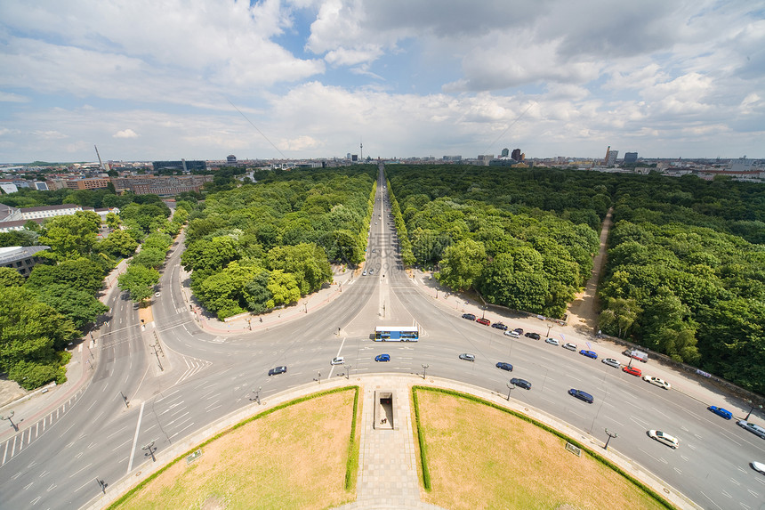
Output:
<path fill-rule="evenodd" d="M 589 275 L 613 206 L 600 328 L 765 393 L 765 184 L 546 168 L 386 171 L 413 262 L 488 302 L 552 316 Z"/>

